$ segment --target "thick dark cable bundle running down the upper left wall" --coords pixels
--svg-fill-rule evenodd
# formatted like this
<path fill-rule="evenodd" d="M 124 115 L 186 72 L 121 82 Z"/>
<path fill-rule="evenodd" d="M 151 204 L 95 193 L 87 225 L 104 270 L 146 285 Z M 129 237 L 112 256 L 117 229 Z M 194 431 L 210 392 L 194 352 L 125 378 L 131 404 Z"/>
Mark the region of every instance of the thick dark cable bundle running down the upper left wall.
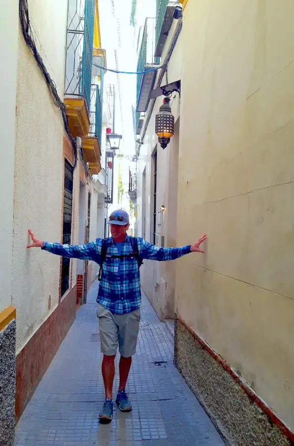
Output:
<path fill-rule="evenodd" d="M 66 133 L 70 139 L 70 142 L 72 144 L 72 152 L 73 152 L 73 159 L 74 159 L 73 168 L 75 169 L 77 166 L 77 162 L 78 162 L 77 143 L 69 130 L 65 104 L 58 96 L 56 85 L 55 85 L 54 81 L 51 79 L 51 77 L 46 69 L 46 66 L 43 62 L 42 57 L 38 53 L 38 50 L 37 50 L 37 47 L 36 47 L 36 44 L 35 44 L 35 41 L 33 38 L 31 25 L 30 25 L 29 7 L 28 7 L 27 0 L 19 0 L 19 19 L 20 19 L 20 25 L 21 25 L 21 30 L 22 30 L 24 40 L 25 40 L 27 46 L 31 49 L 31 51 L 36 59 L 36 62 L 38 64 L 38 66 L 42 72 L 42 75 L 47 83 L 47 86 L 49 88 L 50 96 L 53 100 L 54 105 L 57 107 L 57 109 L 59 109 L 61 111 L 65 131 L 66 131 Z M 85 167 L 87 167 L 87 170 L 86 170 L 87 174 L 89 174 L 89 168 L 88 168 L 87 164 L 85 163 L 83 157 L 82 157 L 82 161 L 84 162 Z"/>

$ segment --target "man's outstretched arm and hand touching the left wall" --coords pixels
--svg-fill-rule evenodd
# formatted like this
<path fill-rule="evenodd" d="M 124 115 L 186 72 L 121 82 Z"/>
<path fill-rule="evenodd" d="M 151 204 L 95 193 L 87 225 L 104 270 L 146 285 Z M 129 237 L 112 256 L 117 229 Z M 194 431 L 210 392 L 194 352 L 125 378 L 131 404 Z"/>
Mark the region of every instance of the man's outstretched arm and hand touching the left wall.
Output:
<path fill-rule="evenodd" d="M 29 229 L 29 234 L 33 243 L 27 245 L 27 248 L 41 248 L 62 257 L 99 261 L 98 239 L 84 245 L 61 245 L 60 243 L 48 243 L 39 240 L 31 229 Z"/>

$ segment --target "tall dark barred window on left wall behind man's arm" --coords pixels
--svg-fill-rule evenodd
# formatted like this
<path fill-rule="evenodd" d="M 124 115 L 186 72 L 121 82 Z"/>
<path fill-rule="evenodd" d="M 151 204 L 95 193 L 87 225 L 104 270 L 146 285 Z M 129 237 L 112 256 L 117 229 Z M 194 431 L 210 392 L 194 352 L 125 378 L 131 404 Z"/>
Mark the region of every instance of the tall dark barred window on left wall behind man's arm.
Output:
<path fill-rule="evenodd" d="M 64 164 L 64 197 L 63 197 L 63 235 L 62 243 L 71 242 L 71 219 L 72 219 L 72 189 L 73 189 L 73 168 L 67 160 Z M 70 259 L 62 257 L 61 268 L 61 296 L 69 288 Z"/>

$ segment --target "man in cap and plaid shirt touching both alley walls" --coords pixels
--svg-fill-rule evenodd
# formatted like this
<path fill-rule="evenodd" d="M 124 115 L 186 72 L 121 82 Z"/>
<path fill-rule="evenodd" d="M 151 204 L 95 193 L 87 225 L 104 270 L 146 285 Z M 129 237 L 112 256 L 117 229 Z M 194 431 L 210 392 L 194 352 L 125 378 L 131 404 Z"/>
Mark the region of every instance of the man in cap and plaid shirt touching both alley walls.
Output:
<path fill-rule="evenodd" d="M 105 401 L 99 419 L 103 423 L 109 423 L 113 414 L 112 386 L 115 372 L 114 359 L 118 346 L 121 356 L 116 403 L 123 412 L 132 410 L 125 388 L 139 333 L 141 305 L 139 267 L 142 260 L 174 260 L 190 252 L 204 253 L 199 246 L 206 239 L 206 235 L 203 235 L 193 245 L 182 248 L 159 248 L 143 238 L 127 235 L 130 223 L 129 215 L 125 211 L 112 212 L 107 223 L 110 224 L 112 237 L 98 238 L 91 243 L 76 246 L 43 242 L 38 240 L 29 229 L 33 243 L 27 246 L 27 248 L 41 247 L 59 256 L 94 260 L 99 265 L 101 261 L 103 262 L 97 297 L 97 316 L 103 353 L 102 376 L 105 388 Z"/>

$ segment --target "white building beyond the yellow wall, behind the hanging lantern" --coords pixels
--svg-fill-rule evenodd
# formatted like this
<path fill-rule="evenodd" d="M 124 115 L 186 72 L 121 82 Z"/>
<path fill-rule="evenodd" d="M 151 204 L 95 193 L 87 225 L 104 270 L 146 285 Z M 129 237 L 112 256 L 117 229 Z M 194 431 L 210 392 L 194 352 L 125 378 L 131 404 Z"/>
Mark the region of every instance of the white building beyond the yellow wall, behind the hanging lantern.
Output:
<path fill-rule="evenodd" d="M 176 246 L 180 96 L 174 92 L 171 97 L 175 135 L 168 150 L 160 147 L 155 134 L 163 96 L 149 97 L 152 90 L 181 78 L 181 21 L 173 19 L 175 4 L 154 2 L 155 17 L 141 19 L 138 26 L 144 25 L 137 31 L 141 36 L 137 71 L 154 69 L 137 77 L 137 235 L 159 246 Z M 157 70 L 162 64 L 166 71 Z M 173 262 L 142 266 L 142 287 L 161 320 L 174 318 L 175 267 Z"/>

